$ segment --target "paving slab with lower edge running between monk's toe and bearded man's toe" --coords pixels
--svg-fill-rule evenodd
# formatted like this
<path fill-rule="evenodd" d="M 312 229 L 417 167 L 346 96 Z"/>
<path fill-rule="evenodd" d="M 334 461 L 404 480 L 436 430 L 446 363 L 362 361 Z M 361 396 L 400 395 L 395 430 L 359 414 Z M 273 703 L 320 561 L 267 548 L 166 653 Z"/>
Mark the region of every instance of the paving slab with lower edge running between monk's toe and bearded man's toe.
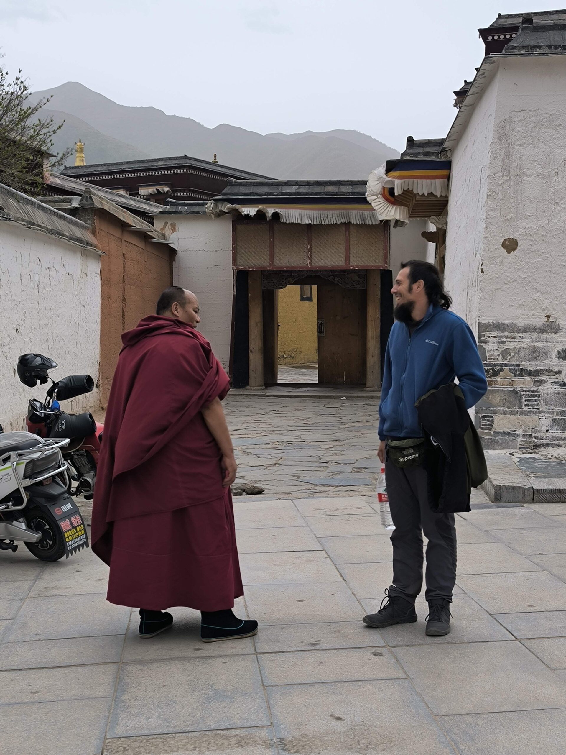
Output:
<path fill-rule="evenodd" d="M 355 621 L 361 607 L 346 584 L 251 585 L 246 590 L 248 611 L 262 624 L 305 624 Z"/>

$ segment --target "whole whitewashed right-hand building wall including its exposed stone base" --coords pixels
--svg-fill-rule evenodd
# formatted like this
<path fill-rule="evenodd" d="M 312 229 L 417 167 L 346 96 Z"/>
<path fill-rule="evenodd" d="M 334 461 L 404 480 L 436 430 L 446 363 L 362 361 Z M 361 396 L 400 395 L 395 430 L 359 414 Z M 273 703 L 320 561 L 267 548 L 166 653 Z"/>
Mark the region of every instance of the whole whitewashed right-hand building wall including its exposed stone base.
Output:
<path fill-rule="evenodd" d="M 452 156 L 448 287 L 478 323 L 491 448 L 566 441 L 566 59 L 504 58 Z"/>

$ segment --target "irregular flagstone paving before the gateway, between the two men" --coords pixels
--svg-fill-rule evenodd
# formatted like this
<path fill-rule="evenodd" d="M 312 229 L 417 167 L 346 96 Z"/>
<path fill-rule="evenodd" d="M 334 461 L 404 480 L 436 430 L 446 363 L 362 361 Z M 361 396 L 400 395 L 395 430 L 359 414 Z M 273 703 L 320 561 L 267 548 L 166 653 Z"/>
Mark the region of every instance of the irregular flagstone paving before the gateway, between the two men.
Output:
<path fill-rule="evenodd" d="M 332 390 L 326 398 L 229 393 L 237 482 L 256 482 L 269 498 L 371 495 L 379 397 Z"/>

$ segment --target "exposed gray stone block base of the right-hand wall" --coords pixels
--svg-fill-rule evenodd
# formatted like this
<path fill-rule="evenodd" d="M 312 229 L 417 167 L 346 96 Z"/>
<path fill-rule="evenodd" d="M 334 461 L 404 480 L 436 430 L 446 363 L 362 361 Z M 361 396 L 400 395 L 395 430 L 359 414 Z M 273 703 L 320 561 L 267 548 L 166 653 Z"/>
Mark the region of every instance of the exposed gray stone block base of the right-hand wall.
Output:
<path fill-rule="evenodd" d="M 489 385 L 475 414 L 484 448 L 566 445 L 566 326 L 480 322 L 478 348 Z"/>

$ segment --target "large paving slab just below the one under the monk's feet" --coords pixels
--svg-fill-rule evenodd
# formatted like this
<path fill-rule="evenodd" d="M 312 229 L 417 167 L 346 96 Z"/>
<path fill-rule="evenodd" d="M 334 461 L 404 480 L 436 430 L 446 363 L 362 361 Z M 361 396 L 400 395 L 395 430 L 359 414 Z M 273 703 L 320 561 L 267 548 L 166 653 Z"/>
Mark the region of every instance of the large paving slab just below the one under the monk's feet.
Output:
<path fill-rule="evenodd" d="M 110 737 L 269 726 L 252 655 L 122 664 Z"/>

